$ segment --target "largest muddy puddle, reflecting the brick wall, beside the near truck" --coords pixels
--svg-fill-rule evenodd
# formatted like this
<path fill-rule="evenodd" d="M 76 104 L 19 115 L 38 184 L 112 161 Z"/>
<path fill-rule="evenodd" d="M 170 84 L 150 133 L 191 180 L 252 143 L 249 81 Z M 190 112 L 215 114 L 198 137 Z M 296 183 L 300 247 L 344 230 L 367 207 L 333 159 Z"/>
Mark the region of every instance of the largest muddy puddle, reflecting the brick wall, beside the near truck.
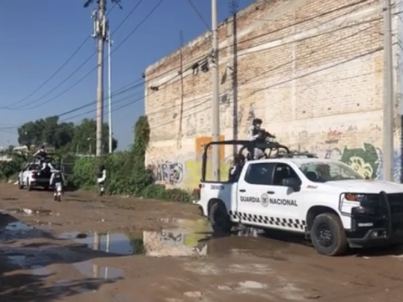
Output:
<path fill-rule="evenodd" d="M 143 231 L 133 234 L 66 233 L 61 239 L 73 240 L 88 248 L 119 255 L 147 255 L 151 257 L 183 257 L 228 254 L 255 254 L 285 261 L 282 256 L 290 243 L 265 237 L 262 231 L 244 228 L 234 236 L 216 237 L 208 220 L 172 219 L 175 228 L 160 232 Z M 234 238 L 238 237 L 238 238 Z M 242 238 L 239 238 L 242 237 Z"/>

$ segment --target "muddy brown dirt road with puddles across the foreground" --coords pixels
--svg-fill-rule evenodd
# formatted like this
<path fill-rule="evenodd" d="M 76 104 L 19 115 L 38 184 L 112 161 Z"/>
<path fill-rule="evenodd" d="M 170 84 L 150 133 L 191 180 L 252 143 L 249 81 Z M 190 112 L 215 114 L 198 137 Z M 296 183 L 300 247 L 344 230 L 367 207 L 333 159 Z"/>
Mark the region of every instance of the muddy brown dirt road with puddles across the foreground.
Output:
<path fill-rule="evenodd" d="M 213 238 L 194 205 L 0 185 L 0 301 L 401 301 L 399 251 Z M 8 213 L 8 214 L 7 214 Z"/>

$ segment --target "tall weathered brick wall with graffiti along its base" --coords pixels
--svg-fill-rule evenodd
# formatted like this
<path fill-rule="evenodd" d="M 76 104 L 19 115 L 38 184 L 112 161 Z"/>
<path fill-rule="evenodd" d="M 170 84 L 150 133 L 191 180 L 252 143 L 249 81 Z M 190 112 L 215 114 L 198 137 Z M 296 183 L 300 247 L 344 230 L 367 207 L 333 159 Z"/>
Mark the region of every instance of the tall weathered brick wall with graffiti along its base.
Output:
<path fill-rule="evenodd" d="M 257 1 L 238 14 L 236 26 L 234 18 L 223 22 L 220 128 L 225 139 L 246 138 L 251 120 L 260 117 L 263 126 L 291 148 L 341 160 L 362 174 L 382 178 L 381 8 L 380 0 Z M 399 28 L 395 16 L 395 42 Z M 211 72 L 194 75 L 191 66 L 203 64 L 210 45 L 209 34 L 197 37 L 146 70 L 145 108 L 151 127 L 146 163 L 166 184 L 192 189 L 200 178 L 200 145 L 212 132 Z M 397 181 L 400 47 L 395 44 L 393 49 Z M 223 154 L 226 176 L 232 149 Z"/>

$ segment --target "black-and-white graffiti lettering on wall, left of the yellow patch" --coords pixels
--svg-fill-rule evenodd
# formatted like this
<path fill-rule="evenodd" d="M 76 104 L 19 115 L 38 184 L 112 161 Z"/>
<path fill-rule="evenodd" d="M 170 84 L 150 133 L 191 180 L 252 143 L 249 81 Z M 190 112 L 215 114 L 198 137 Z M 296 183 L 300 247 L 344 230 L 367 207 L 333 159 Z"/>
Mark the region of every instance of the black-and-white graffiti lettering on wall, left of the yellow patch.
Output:
<path fill-rule="evenodd" d="M 177 185 L 183 180 L 183 165 L 181 163 L 165 161 L 152 166 L 155 180 L 158 182 Z"/>

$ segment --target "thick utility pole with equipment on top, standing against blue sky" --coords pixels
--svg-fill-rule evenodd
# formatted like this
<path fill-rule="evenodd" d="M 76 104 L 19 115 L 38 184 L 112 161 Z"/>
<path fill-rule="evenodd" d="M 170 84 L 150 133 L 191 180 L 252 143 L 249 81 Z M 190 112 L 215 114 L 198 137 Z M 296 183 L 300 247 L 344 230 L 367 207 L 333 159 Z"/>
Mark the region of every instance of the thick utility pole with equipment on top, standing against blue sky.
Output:
<path fill-rule="evenodd" d="M 84 7 L 88 7 L 94 0 L 87 0 Z M 94 12 L 93 37 L 97 40 L 98 52 L 98 85 L 97 85 L 97 133 L 96 133 L 96 156 L 102 154 L 102 125 L 103 125 L 103 101 L 104 101 L 104 43 L 107 36 L 107 22 L 105 17 L 106 0 L 97 0 L 97 12 Z"/>

